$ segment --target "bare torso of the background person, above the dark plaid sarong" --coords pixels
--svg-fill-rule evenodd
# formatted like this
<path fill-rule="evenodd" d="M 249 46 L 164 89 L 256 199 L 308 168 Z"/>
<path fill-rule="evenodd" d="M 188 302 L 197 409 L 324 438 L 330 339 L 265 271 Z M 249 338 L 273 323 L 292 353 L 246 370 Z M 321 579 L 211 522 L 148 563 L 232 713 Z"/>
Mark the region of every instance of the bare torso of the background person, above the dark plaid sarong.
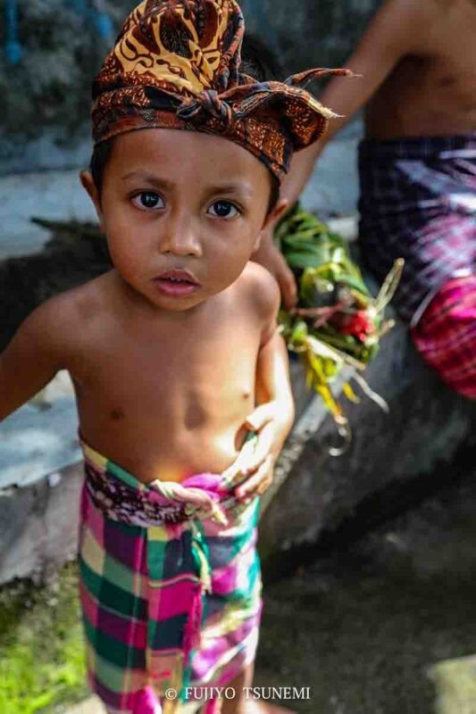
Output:
<path fill-rule="evenodd" d="M 440 18 L 421 51 L 397 64 L 367 104 L 368 138 L 435 137 L 476 130 L 476 2 L 435 0 Z"/>

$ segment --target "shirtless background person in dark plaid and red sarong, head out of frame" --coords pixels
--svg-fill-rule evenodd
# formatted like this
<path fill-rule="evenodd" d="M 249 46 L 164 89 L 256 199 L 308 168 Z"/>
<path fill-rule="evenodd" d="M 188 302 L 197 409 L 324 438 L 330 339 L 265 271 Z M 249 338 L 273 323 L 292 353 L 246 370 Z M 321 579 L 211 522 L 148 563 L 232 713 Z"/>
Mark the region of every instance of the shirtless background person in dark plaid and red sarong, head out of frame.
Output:
<path fill-rule="evenodd" d="M 476 398 L 476 3 L 388 0 L 321 100 L 342 117 L 296 155 L 281 196 L 296 201 L 325 142 L 365 105 L 360 147 L 360 242 L 379 278 L 405 270 L 394 303 L 423 358 L 449 386 Z M 259 259 L 296 286 L 263 236 Z"/>

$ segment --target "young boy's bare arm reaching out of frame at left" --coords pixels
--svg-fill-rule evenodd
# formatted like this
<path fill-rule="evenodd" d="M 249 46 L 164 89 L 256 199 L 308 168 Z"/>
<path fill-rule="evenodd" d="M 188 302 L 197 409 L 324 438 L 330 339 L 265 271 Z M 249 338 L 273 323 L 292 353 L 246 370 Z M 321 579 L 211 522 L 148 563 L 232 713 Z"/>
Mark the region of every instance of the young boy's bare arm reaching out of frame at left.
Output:
<path fill-rule="evenodd" d="M 0 421 L 62 369 L 55 304 L 48 301 L 32 312 L 0 354 Z"/>

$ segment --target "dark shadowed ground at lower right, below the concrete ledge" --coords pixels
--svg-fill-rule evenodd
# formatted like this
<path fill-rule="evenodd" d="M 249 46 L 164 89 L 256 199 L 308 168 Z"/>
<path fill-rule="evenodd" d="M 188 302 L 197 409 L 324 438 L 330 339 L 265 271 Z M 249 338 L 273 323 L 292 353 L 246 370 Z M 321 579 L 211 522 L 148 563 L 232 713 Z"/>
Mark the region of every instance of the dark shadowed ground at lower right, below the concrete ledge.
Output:
<path fill-rule="evenodd" d="M 474 714 L 473 660 L 432 668 L 476 652 L 475 517 L 468 478 L 267 586 L 256 684 L 310 686 L 303 714 Z"/>

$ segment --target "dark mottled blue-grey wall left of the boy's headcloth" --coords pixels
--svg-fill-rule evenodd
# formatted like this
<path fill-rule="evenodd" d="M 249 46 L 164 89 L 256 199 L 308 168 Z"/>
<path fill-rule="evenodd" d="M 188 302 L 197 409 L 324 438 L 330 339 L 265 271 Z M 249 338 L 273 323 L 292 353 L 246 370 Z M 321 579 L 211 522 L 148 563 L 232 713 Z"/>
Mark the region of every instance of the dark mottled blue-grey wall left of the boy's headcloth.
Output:
<path fill-rule="evenodd" d="M 0 1 L 3 48 L 8 40 L 6 1 Z M 117 26 L 131 5 L 130 0 L 107 0 L 104 10 Z M 110 44 L 75 11 L 72 0 L 19 3 L 18 40 L 20 62 L 12 64 L 4 52 L 0 55 L 0 169 L 4 170 L 38 168 L 34 157 L 28 156 L 32 139 L 47 134 L 61 148 L 87 136 L 90 81 Z M 16 163 L 11 165 L 13 160 Z"/>

